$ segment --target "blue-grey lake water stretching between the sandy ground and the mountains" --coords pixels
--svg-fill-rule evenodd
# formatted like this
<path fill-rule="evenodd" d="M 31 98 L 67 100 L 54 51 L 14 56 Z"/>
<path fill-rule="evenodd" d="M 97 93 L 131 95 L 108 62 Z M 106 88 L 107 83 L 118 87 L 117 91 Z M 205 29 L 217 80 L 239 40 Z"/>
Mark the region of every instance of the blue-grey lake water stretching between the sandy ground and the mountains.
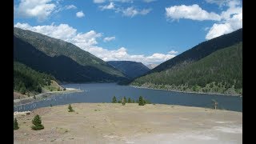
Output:
<path fill-rule="evenodd" d="M 39 107 L 65 105 L 79 102 L 111 102 L 116 96 L 137 100 L 139 96 L 152 103 L 173 104 L 182 106 L 212 107 L 212 99 L 218 102 L 219 109 L 242 111 L 242 98 L 218 94 L 192 94 L 167 90 L 139 89 L 131 86 L 118 86 L 114 83 L 66 84 L 64 87 L 84 90 L 70 94 L 55 94 L 38 102 L 14 106 L 14 111 L 34 110 Z"/>

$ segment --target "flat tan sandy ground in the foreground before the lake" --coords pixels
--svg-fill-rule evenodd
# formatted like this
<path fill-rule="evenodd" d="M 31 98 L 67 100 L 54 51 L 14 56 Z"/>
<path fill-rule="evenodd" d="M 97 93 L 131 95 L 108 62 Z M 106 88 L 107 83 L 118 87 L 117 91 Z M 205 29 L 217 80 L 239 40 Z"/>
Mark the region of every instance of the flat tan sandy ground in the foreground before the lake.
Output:
<path fill-rule="evenodd" d="M 242 143 L 242 113 L 138 103 L 75 103 L 19 114 L 14 143 Z M 31 130 L 35 114 L 44 130 Z"/>

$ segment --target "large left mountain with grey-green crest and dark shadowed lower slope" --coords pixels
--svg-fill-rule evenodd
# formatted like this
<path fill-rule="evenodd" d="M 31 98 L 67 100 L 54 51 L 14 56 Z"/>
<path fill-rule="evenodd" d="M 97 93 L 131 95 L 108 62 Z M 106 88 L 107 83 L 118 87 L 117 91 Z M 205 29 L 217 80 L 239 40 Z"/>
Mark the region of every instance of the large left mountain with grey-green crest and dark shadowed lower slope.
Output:
<path fill-rule="evenodd" d="M 78 46 L 16 27 L 14 61 L 52 74 L 59 82 L 117 82 L 126 79 L 121 71 Z"/>

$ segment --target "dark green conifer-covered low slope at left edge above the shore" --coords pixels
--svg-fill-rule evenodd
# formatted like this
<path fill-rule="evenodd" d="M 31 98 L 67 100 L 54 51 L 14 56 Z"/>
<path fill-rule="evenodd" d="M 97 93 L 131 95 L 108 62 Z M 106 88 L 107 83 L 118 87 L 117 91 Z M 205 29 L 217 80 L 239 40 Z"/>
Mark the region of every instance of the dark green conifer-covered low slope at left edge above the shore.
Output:
<path fill-rule="evenodd" d="M 55 78 L 50 74 L 39 73 L 30 67 L 14 61 L 14 91 L 41 93 L 43 86 L 50 86 Z"/>

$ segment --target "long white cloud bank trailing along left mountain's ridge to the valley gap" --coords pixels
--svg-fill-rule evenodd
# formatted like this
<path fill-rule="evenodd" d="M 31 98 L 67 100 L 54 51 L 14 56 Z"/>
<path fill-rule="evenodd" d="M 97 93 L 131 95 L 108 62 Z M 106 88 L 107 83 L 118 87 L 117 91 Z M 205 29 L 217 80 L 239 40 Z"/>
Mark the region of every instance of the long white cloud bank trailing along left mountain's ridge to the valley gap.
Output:
<path fill-rule="evenodd" d="M 102 58 L 104 61 L 126 60 L 142 62 L 146 65 L 151 63 L 159 64 L 170 58 L 174 58 L 176 54 L 178 54 L 178 52 L 175 50 L 171 50 L 168 54 L 155 53 L 148 56 L 144 54 L 129 54 L 125 47 L 120 47 L 117 50 L 107 50 L 97 46 L 97 38 L 102 37 L 101 33 L 97 33 L 94 30 L 90 30 L 86 33 L 78 33 L 76 29 L 67 24 L 54 25 L 53 23 L 50 26 L 30 26 L 27 23 L 18 22 L 14 25 L 14 27 L 46 34 L 50 37 L 73 43 L 74 45 L 80 47 L 82 50 L 86 50 L 98 58 Z"/>

